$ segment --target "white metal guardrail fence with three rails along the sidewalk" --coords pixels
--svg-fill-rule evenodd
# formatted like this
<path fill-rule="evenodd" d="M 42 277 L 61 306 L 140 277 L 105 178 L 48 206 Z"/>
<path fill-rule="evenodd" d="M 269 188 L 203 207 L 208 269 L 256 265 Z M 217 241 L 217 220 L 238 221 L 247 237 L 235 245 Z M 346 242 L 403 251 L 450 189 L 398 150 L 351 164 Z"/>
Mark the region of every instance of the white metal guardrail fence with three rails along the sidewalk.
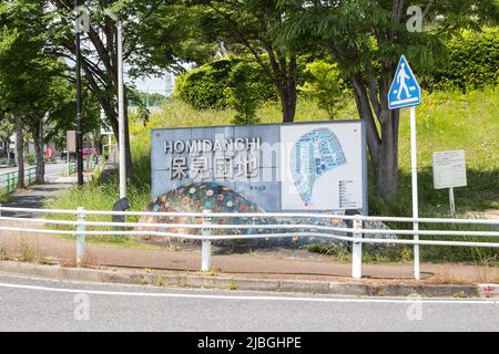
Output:
<path fill-rule="evenodd" d="M 75 220 L 57 220 L 47 218 L 27 218 L 27 217 L 7 217 L 4 214 L 22 214 L 22 215 L 70 215 Z M 108 222 L 108 221 L 86 221 L 88 216 L 120 216 L 120 217 L 155 217 L 155 218 L 192 218 L 194 222 Z M 218 218 L 235 219 L 234 221 L 247 220 L 247 223 L 225 223 L 217 225 L 213 220 Z M 258 223 L 268 219 L 278 219 L 284 223 Z M 324 220 L 349 220 L 353 227 L 334 227 L 310 223 L 294 223 L 295 220 L 314 219 L 315 221 Z M 31 228 L 17 225 L 6 226 L 2 221 L 18 221 L 22 223 L 41 225 L 42 228 Z M 499 248 L 499 242 L 477 242 L 477 241 L 455 241 L 455 240 L 410 240 L 410 239 L 379 239 L 369 238 L 373 235 L 393 235 L 393 236 L 416 236 L 425 237 L 459 237 L 459 238 L 499 238 L 499 231 L 466 231 L 466 230 L 380 230 L 364 228 L 365 221 L 381 222 L 408 222 L 408 223 L 430 223 L 430 225 L 480 225 L 499 228 L 499 220 L 489 219 L 435 219 L 435 218 L 398 218 L 398 217 L 365 217 L 365 216 L 342 216 L 327 214 L 215 214 L 208 210 L 204 212 L 140 212 L 140 211 L 103 211 L 103 210 L 55 210 L 55 209 L 28 209 L 28 208 L 9 208 L 0 206 L 0 230 L 17 231 L 23 233 L 45 233 L 45 235 L 70 235 L 77 237 L 77 264 L 80 266 L 85 252 L 85 236 L 128 236 L 128 237 L 164 237 L 174 239 L 187 239 L 201 241 L 202 260 L 201 270 L 208 271 L 211 269 L 211 242 L 215 240 L 237 240 L 237 239 L 272 239 L 272 238 L 323 238 L 329 240 L 340 240 L 352 242 L 352 277 L 361 278 L 363 266 L 363 243 L 385 243 L 385 244 L 419 244 L 419 246 L 440 246 L 440 247 L 471 247 L 471 248 Z M 333 222 L 332 222 L 333 223 Z M 50 226 L 74 227 L 73 230 L 51 229 Z M 92 230 L 88 230 L 92 227 Z M 95 229 L 98 227 L 108 228 L 104 230 Z M 109 228 L 113 228 L 110 230 Z M 126 228 L 141 228 L 141 230 L 126 230 Z M 159 229 L 149 230 L 151 228 Z M 184 232 L 172 232 L 174 229 L 197 230 L 201 235 Z M 491 228 L 492 229 L 492 228 Z M 252 230 L 251 235 L 213 235 L 213 231 L 227 232 L 227 230 Z M 257 230 L 261 233 L 254 233 Z M 262 230 L 271 231 L 268 233 Z M 277 230 L 277 232 L 272 232 Z M 352 236 L 345 236 L 352 235 Z M 498 239 L 499 240 L 499 239 Z"/>

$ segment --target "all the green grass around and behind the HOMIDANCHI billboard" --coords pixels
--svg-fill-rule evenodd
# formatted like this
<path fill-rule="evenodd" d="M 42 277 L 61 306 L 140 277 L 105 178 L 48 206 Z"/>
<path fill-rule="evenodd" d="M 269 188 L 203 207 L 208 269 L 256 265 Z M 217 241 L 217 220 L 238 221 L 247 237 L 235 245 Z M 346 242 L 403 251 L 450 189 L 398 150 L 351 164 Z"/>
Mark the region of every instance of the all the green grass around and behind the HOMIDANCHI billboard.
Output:
<path fill-rule="evenodd" d="M 132 134 L 132 155 L 134 159 L 134 177 L 128 189 L 132 210 L 144 210 L 150 201 L 150 146 L 151 128 L 167 128 L 183 126 L 228 125 L 234 112 L 197 111 L 185 103 L 171 100 L 164 104 L 163 112 L 153 114 L 144 126 L 141 122 L 133 122 L 130 126 Z M 431 176 L 431 155 L 434 152 L 449 149 L 465 149 L 468 166 L 468 187 L 457 188 L 456 207 L 458 217 L 469 217 L 469 212 L 482 212 L 499 209 L 499 90 L 486 88 L 469 92 L 466 95 L 451 92 L 435 92 L 425 95 L 424 104 L 418 111 L 418 169 L 419 169 L 419 205 L 421 217 L 448 217 L 448 191 L 435 190 Z M 276 103 L 268 103 L 261 107 L 257 116 L 262 123 L 279 123 L 281 108 Z M 340 119 L 357 118 L 354 100 L 339 113 Z M 327 113 L 316 107 L 310 101 L 298 103 L 296 122 L 327 121 Z M 373 188 L 369 175 L 369 212 L 383 216 L 410 216 L 410 145 L 409 145 L 408 111 L 403 111 L 399 135 L 399 191 L 396 200 L 387 202 L 379 198 Z M 48 208 L 75 209 L 80 206 L 86 209 L 110 210 L 118 200 L 118 180 L 111 179 L 104 185 L 89 184 L 78 188 L 64 190 L 55 198 L 45 202 Z M 59 216 L 58 216 L 59 217 Z M 92 217 L 94 220 L 109 220 L 103 217 Z M 410 228 L 410 225 L 391 225 L 394 228 Z M 421 226 L 425 229 L 427 226 Z M 432 226 L 435 228 L 435 226 Z M 451 228 L 450 226 L 447 229 Z M 445 229 L 445 228 L 441 228 Z M 457 229 L 467 230 L 465 226 Z M 473 227 L 477 230 L 476 227 Z M 481 227 L 481 230 L 490 228 Z M 429 238 L 428 238 L 429 239 Z M 447 238 L 456 239 L 456 238 Z M 460 240 L 476 240 L 461 238 Z M 102 239 L 100 239 L 102 240 Z M 480 239 L 483 241 L 483 239 Z M 106 238 L 108 242 L 123 242 L 122 238 Z M 497 241 L 497 240 L 495 240 Z M 338 249 L 312 248 L 313 251 L 326 252 L 338 259 L 345 256 Z M 498 261 L 499 251 L 469 248 L 425 247 L 425 261 Z M 406 261 L 410 260 L 410 247 L 387 248 L 375 253 L 367 253 L 368 261 Z"/>

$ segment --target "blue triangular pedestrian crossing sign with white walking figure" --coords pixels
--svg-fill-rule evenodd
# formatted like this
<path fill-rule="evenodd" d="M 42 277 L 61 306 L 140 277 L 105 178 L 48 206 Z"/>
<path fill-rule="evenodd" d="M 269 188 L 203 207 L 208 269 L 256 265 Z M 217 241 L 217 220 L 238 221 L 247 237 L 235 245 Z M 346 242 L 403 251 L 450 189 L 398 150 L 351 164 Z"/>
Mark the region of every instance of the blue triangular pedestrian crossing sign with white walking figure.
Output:
<path fill-rule="evenodd" d="M 388 92 L 388 107 L 399 110 L 421 104 L 421 87 L 405 55 L 398 63 L 397 73 Z"/>

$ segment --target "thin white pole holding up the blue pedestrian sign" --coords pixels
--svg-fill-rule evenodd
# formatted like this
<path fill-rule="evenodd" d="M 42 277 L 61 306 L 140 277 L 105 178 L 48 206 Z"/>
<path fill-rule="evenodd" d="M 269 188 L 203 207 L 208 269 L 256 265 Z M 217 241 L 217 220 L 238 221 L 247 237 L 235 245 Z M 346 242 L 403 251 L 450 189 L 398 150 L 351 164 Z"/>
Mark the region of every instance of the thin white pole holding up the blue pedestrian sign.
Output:
<path fill-rule="evenodd" d="M 418 206 L 418 150 L 416 140 L 416 106 L 410 107 L 410 160 L 413 175 L 413 218 L 419 218 Z M 413 225 L 414 231 L 419 231 L 419 223 L 417 221 Z M 414 240 L 419 241 L 419 235 L 414 235 Z M 419 244 L 414 246 L 414 278 L 420 279 L 419 267 Z"/>

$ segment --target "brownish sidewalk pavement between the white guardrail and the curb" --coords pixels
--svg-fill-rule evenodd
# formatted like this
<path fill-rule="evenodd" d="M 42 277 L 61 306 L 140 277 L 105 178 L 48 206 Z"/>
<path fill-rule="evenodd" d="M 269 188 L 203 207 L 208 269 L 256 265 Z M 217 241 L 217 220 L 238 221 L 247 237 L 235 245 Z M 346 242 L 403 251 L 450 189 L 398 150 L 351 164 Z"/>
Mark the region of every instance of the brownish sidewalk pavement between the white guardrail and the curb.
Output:
<path fill-rule="evenodd" d="M 6 227 L 19 227 L 19 221 L 3 221 Z M 40 223 L 26 222 L 24 227 L 43 228 Z M 52 235 L 0 231 L 0 249 L 10 259 L 57 263 L 72 267 L 75 263 L 75 241 Z M 131 248 L 106 244 L 86 244 L 84 263 L 90 268 L 119 267 L 197 272 L 201 268 L 200 248 L 169 250 Z M 0 253 L 1 254 L 1 253 Z M 350 263 L 337 262 L 327 256 L 306 254 L 305 251 L 258 251 L 245 254 L 214 254 L 212 269 L 215 274 L 233 274 L 256 279 L 339 280 L 349 281 Z M 499 269 L 473 264 L 421 264 L 424 283 L 499 283 Z M 383 263 L 363 267 L 365 281 L 393 281 L 414 283 L 413 264 Z"/>

